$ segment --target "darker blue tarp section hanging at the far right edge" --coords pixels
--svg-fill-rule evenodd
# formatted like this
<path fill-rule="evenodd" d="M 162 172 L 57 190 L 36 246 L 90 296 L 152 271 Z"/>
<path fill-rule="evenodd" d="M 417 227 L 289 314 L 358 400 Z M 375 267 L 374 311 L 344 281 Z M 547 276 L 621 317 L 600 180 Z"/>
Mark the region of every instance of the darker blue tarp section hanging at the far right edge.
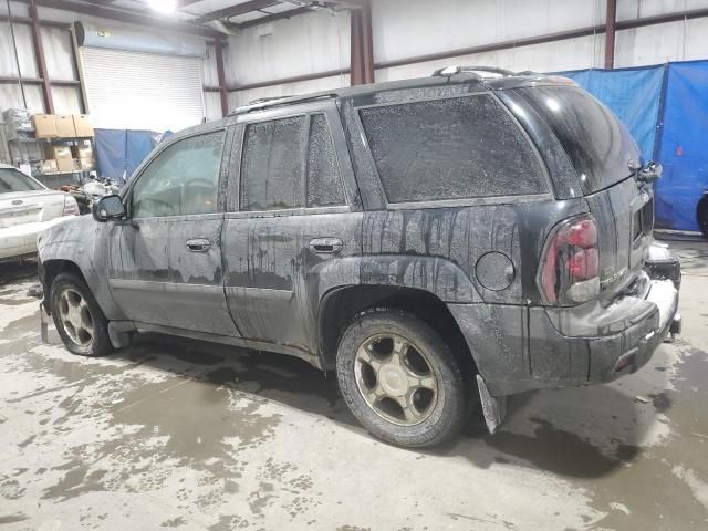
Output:
<path fill-rule="evenodd" d="M 669 64 L 663 123 L 657 226 L 699 230 L 697 205 L 708 188 L 708 61 Z"/>

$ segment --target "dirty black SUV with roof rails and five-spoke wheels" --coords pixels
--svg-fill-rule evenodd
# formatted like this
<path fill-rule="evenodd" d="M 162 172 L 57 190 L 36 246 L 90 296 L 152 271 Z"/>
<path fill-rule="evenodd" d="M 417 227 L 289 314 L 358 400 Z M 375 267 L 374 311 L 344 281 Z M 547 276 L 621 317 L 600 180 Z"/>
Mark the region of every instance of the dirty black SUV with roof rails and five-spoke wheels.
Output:
<path fill-rule="evenodd" d="M 163 143 L 40 239 L 44 308 L 100 355 L 160 332 L 336 371 L 376 436 L 641 367 L 677 315 L 637 146 L 573 82 L 451 67 L 253 102 Z"/>

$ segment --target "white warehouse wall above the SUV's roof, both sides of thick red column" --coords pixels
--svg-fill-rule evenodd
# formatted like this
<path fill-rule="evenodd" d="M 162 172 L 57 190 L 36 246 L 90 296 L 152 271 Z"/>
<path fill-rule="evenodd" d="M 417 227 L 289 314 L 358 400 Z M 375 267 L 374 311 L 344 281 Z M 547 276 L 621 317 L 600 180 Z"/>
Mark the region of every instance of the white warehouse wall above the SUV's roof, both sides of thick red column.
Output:
<path fill-rule="evenodd" d="M 606 0 L 372 0 L 376 81 L 429 75 L 450 64 L 485 64 L 541 72 L 604 66 L 604 33 L 439 61 L 386 66 L 391 61 L 445 53 L 605 23 Z M 708 8 L 708 0 L 618 0 L 617 20 Z M 229 39 L 228 84 L 263 84 L 348 67 L 350 19 L 316 12 L 256 27 Z M 708 58 L 708 19 L 618 31 L 615 66 Z M 346 75 L 235 91 L 249 100 L 346 85 Z"/>

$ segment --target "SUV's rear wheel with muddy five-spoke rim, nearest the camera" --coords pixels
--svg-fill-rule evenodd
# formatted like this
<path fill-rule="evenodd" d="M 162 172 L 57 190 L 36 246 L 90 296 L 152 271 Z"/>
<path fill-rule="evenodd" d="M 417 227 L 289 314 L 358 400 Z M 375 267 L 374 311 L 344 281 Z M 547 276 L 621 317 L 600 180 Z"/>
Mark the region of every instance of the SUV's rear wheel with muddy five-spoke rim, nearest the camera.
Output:
<path fill-rule="evenodd" d="M 467 418 L 466 385 L 450 347 L 404 311 L 360 314 L 340 339 L 336 373 L 354 416 L 395 445 L 438 445 Z"/>

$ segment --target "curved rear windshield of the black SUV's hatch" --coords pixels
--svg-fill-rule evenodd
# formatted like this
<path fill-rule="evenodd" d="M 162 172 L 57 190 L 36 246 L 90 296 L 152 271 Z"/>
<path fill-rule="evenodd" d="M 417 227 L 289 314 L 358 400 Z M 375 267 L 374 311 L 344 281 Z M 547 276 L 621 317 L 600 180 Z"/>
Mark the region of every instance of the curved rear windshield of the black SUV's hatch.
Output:
<path fill-rule="evenodd" d="M 546 121 L 580 174 L 585 194 L 607 188 L 631 175 L 639 162 L 636 143 L 612 112 L 574 86 L 519 88 Z"/>

